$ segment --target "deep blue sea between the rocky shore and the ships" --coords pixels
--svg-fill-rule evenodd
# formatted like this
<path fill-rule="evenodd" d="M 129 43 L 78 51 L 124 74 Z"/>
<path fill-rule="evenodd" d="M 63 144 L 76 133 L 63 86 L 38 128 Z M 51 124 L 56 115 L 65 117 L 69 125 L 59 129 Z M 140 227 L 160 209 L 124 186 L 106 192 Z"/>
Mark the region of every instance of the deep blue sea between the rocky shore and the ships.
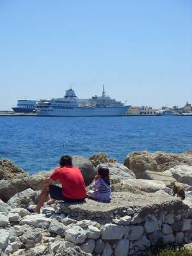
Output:
<path fill-rule="evenodd" d="M 0 158 L 29 173 L 50 170 L 63 154 L 106 152 L 123 163 L 135 150 L 192 148 L 192 116 L 0 117 Z"/>

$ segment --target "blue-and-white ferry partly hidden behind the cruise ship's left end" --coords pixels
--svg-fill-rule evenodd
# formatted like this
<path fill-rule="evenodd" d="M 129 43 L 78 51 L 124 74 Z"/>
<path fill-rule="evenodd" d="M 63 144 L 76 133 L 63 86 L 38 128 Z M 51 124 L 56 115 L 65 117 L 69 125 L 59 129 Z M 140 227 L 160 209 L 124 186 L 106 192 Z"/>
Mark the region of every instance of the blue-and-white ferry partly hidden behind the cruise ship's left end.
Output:
<path fill-rule="evenodd" d="M 17 107 L 12 108 L 15 113 L 35 113 L 38 100 L 17 100 Z"/>

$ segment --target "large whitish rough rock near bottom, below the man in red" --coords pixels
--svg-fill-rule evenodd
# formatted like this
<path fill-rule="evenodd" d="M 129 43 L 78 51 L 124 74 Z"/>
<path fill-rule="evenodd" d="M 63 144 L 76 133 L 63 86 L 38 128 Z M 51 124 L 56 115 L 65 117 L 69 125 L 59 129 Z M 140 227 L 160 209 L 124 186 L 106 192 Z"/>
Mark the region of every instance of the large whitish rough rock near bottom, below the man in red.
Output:
<path fill-rule="evenodd" d="M 65 231 L 65 239 L 74 244 L 82 244 L 86 239 L 86 231 L 79 226 L 68 228 Z"/>

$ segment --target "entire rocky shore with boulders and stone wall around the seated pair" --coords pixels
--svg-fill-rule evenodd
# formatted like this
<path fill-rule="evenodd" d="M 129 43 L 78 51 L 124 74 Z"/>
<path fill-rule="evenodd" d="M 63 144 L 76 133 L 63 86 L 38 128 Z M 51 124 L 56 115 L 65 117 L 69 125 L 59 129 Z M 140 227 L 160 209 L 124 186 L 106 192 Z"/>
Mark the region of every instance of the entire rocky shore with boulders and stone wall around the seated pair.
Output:
<path fill-rule="evenodd" d="M 74 156 L 87 189 L 100 164 L 108 166 L 113 200 L 86 199 L 81 204 L 36 205 L 45 177 L 28 172 L 10 159 L 0 160 L 0 255 L 145 255 L 147 250 L 192 243 L 192 154 L 133 152 L 124 164 L 104 153 L 90 159 Z M 186 198 L 173 197 L 172 184 Z"/>

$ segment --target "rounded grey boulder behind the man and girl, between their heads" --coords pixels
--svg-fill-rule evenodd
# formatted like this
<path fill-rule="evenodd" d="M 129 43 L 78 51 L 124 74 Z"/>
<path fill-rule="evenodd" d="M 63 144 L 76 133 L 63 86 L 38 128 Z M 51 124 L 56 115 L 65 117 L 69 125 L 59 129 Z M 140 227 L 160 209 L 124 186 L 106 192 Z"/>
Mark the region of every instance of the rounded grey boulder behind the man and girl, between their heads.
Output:
<path fill-rule="evenodd" d="M 72 164 L 81 170 L 86 186 L 92 183 L 97 171 L 92 162 L 83 156 L 73 156 Z"/>

